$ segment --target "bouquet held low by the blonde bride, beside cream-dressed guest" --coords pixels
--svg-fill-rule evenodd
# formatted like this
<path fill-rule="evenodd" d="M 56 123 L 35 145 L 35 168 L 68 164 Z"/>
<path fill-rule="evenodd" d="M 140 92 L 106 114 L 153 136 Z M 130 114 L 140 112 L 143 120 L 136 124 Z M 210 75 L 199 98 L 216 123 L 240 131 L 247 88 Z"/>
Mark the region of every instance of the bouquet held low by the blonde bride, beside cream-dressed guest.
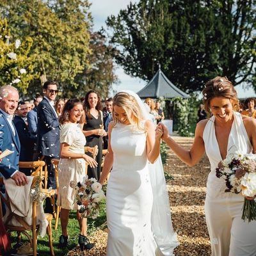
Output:
<path fill-rule="evenodd" d="M 99 216 L 100 202 L 106 198 L 102 186 L 96 179 L 84 177 L 83 182 L 70 181 L 70 187 L 75 190 L 75 201 L 83 218 L 93 219 Z"/>

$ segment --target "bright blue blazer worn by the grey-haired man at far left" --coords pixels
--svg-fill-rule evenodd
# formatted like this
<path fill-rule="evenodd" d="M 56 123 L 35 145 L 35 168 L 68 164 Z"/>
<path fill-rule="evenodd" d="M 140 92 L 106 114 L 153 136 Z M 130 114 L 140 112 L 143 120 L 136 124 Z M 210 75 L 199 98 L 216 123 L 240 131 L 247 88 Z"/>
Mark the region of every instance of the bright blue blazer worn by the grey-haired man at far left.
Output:
<path fill-rule="evenodd" d="M 4 157 L 0 163 L 0 172 L 4 178 L 8 179 L 13 172 L 19 170 L 20 141 L 16 129 L 15 136 L 13 134 L 12 127 L 7 120 L 7 114 L 0 109 L 0 150 L 3 152 L 6 148 L 14 151 L 9 156 Z"/>

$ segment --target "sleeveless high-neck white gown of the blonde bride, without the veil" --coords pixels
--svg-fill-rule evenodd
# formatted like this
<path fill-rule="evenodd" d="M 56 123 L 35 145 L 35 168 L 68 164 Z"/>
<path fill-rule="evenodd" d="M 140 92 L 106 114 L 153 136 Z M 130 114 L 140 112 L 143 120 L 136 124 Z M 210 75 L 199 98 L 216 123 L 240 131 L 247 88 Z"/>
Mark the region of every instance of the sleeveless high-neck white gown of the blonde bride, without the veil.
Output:
<path fill-rule="evenodd" d="M 113 169 L 108 180 L 108 256 L 162 255 L 151 230 L 153 204 L 146 134 L 116 124 L 111 132 Z"/>

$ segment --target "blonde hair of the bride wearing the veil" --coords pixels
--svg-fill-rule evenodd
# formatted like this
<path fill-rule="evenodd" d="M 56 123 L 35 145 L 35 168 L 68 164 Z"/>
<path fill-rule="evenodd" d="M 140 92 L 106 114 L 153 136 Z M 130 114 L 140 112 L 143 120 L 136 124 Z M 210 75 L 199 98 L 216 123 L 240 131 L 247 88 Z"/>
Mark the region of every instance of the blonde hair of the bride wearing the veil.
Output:
<path fill-rule="evenodd" d="M 127 119 L 130 124 L 135 125 L 135 127 L 141 131 L 145 131 L 145 128 L 141 126 L 141 121 L 143 120 L 143 114 L 137 100 L 126 92 L 119 92 L 113 97 L 113 107 L 118 106 L 123 108 L 127 114 Z M 115 112 L 115 111 L 114 111 Z M 118 123 L 118 119 L 113 115 L 114 125 Z"/>

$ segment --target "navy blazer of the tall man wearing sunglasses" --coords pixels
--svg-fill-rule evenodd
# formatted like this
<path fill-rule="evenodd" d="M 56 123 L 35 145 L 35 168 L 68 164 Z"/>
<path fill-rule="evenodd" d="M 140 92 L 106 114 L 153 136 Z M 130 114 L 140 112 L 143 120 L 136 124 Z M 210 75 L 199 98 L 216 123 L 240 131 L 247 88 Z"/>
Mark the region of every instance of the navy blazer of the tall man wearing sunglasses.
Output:
<path fill-rule="evenodd" d="M 43 99 L 37 107 L 37 150 L 42 156 L 60 154 L 60 123 L 49 101 Z"/>

